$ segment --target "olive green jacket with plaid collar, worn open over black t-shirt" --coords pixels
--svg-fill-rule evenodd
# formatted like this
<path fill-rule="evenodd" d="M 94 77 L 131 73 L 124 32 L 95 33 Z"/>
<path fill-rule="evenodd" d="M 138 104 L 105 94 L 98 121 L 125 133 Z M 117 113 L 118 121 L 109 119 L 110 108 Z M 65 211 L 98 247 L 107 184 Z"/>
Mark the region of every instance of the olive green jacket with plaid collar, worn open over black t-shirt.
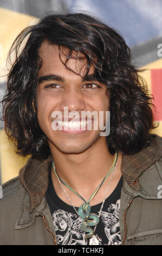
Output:
<path fill-rule="evenodd" d="M 0 200 L 0 245 L 57 245 L 53 220 L 44 196 L 51 156 L 33 159 L 20 175 L 3 185 Z M 123 155 L 120 202 L 122 245 L 162 245 L 162 138 L 147 148 Z"/>

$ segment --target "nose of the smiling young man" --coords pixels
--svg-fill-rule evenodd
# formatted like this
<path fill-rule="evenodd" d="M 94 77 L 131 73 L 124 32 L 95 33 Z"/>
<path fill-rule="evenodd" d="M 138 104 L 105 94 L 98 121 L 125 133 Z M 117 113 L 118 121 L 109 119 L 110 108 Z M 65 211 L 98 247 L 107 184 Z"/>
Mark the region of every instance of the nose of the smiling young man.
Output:
<path fill-rule="evenodd" d="M 61 111 L 63 111 L 64 107 L 68 107 L 69 112 L 82 111 L 85 109 L 86 104 L 80 90 L 69 89 L 63 93 L 60 106 Z"/>

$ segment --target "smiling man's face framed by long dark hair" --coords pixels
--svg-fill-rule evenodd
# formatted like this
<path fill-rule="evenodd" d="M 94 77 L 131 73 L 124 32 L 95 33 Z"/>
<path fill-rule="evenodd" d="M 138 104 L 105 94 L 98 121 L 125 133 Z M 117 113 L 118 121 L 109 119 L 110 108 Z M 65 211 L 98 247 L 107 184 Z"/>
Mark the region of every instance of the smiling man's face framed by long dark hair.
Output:
<path fill-rule="evenodd" d="M 86 59 L 82 53 L 73 52 L 68 60 L 67 66 L 74 72 L 68 70 L 61 62 L 67 58 L 66 48 L 61 48 L 44 41 L 40 48 L 42 66 L 38 74 L 37 87 L 37 118 L 38 123 L 48 138 L 50 150 L 59 149 L 62 153 L 82 153 L 97 144 L 106 145 L 106 139 L 100 136 L 100 130 L 53 130 L 53 113 L 59 111 L 64 120 L 64 107 L 68 111 L 77 111 L 81 118 L 82 111 L 103 111 L 109 109 L 109 100 L 106 94 L 106 86 L 95 80 L 94 67 L 91 66 L 89 74 L 84 78 L 86 71 Z M 77 75 L 79 74 L 79 75 Z M 70 121 L 70 120 L 68 120 Z M 105 119 L 104 119 L 105 121 Z M 63 125 L 62 123 L 59 123 Z M 67 123 L 64 123 L 66 125 Z M 87 124 L 87 123 L 86 123 Z M 78 125 L 75 124 L 76 126 Z M 74 126 L 75 126 L 74 125 Z"/>

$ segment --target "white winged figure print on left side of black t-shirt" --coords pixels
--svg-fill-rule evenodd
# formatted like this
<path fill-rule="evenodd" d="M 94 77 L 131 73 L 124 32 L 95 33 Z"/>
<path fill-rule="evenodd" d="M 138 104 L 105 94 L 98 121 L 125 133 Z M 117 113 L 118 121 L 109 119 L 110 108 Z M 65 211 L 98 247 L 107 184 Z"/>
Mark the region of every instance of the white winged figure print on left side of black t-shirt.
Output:
<path fill-rule="evenodd" d="M 87 245 L 81 229 L 82 218 L 64 210 L 54 212 L 53 223 L 59 245 Z"/>

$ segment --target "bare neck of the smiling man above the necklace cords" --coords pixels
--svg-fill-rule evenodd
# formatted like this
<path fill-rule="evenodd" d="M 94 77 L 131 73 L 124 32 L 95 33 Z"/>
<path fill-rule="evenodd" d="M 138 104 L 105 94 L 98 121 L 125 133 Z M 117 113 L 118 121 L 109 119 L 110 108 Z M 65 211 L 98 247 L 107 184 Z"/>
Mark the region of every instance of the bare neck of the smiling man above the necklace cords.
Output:
<path fill-rule="evenodd" d="M 99 186 L 115 158 L 109 153 L 106 143 L 105 147 L 90 148 L 79 154 L 63 154 L 56 148 L 51 153 L 57 174 L 77 192 L 86 191 L 90 184 L 93 184 L 92 190 Z M 52 175 L 55 176 L 54 172 Z"/>

